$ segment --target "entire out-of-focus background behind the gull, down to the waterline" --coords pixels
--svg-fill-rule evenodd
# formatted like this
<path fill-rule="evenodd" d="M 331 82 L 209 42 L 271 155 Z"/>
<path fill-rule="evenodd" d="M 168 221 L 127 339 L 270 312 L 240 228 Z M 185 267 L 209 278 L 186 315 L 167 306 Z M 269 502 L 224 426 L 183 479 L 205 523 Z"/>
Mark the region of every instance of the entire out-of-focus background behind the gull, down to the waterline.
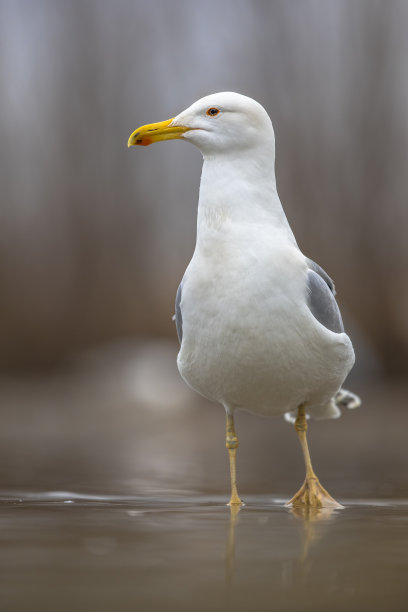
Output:
<path fill-rule="evenodd" d="M 335 279 L 363 407 L 313 424 L 337 496 L 408 493 L 408 3 L 0 0 L 2 488 L 227 492 L 224 415 L 178 376 L 175 292 L 201 170 L 139 125 L 237 91 Z M 242 414 L 242 495 L 290 496 L 292 428 Z"/>

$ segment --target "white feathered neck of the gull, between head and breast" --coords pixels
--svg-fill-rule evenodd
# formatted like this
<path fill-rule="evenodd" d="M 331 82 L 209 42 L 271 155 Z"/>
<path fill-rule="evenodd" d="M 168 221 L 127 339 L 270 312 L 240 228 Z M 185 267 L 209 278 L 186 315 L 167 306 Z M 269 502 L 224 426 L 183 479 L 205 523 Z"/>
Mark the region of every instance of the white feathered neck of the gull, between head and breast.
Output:
<path fill-rule="evenodd" d="M 204 157 L 197 244 L 207 239 L 209 229 L 225 234 L 237 223 L 269 225 L 295 243 L 276 191 L 274 159 L 273 143 L 255 152 Z"/>

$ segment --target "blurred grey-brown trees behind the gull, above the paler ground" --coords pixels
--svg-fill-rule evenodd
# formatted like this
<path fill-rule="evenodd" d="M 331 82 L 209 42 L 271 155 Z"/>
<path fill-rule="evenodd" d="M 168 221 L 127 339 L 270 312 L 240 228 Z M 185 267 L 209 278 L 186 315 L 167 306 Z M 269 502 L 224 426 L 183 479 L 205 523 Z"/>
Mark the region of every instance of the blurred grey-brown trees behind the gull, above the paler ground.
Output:
<path fill-rule="evenodd" d="M 403 0 L 1 2 L 1 364 L 174 334 L 200 157 L 126 140 L 231 89 L 272 116 L 301 248 L 406 373 L 407 19 Z"/>

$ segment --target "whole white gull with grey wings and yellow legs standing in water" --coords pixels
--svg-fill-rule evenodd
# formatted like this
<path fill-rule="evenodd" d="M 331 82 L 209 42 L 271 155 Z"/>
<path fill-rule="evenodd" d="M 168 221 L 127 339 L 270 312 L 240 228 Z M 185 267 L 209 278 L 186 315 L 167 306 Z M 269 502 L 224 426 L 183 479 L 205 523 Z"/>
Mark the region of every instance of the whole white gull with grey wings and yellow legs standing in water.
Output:
<path fill-rule="evenodd" d="M 184 381 L 226 412 L 231 507 L 237 490 L 237 409 L 294 423 L 306 468 L 293 507 L 341 508 L 312 467 L 309 417 L 337 418 L 360 399 L 342 384 L 354 365 L 329 275 L 299 249 L 275 179 L 275 136 L 247 96 L 201 98 L 144 125 L 128 146 L 183 139 L 203 156 L 193 257 L 176 294 Z"/>

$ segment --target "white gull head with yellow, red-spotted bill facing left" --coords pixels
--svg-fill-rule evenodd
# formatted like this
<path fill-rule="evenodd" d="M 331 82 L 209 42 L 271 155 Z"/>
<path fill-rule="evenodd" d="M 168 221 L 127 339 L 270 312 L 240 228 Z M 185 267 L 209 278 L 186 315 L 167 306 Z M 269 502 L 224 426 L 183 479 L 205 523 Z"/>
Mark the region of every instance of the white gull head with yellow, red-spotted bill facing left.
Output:
<path fill-rule="evenodd" d="M 195 144 L 204 157 L 262 145 L 274 148 L 272 122 L 265 109 L 252 98 L 233 92 L 205 96 L 176 117 L 137 128 L 128 146 L 176 138 Z"/>

